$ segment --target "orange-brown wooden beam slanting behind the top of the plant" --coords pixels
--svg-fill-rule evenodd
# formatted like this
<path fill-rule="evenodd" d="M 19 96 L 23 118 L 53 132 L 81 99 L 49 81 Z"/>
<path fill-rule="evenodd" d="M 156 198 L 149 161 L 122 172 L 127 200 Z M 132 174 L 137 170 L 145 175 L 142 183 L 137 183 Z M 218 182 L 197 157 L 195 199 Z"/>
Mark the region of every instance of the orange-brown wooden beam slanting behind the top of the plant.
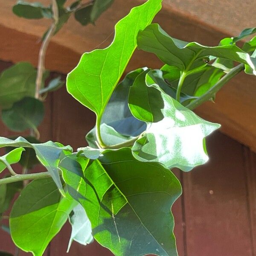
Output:
<path fill-rule="evenodd" d="M 26 20 L 16 17 L 12 14 L 12 6 L 15 2 L 16 0 L 8 0 L 0 4 L 0 59 L 12 62 L 30 61 L 36 65 L 40 37 L 49 26 L 49 20 Z M 125 16 L 131 7 L 140 2 L 143 0 L 116 0 L 113 6 L 97 20 L 96 26 L 82 27 L 71 17 L 50 43 L 46 67 L 49 70 L 68 73 L 76 66 L 83 52 L 108 46 L 113 39 L 114 24 Z M 195 18 L 199 14 L 195 15 L 193 12 L 191 12 L 194 15 L 192 17 L 189 10 L 186 9 L 184 12 L 178 9 L 177 1 L 174 2 L 173 7 L 172 1 L 164 1 L 163 9 L 155 18 L 155 22 L 160 23 L 163 29 L 173 37 L 211 46 L 217 45 L 221 38 L 229 36 L 221 31 L 221 26 L 213 27 L 209 22 L 206 23 L 205 18 L 202 19 L 203 21 Z M 184 1 L 188 4 L 187 2 L 189 0 Z M 249 11 L 248 9 L 247 12 Z M 228 10 L 215 15 L 227 15 L 227 13 L 229 13 Z M 211 9 L 209 9 L 209 15 L 212 15 Z M 235 31 L 236 27 L 230 24 L 227 30 Z M 243 19 L 241 26 L 246 27 L 250 24 Z M 144 66 L 158 68 L 161 65 L 161 61 L 153 54 L 136 51 L 127 71 Z M 248 145 L 254 151 L 256 151 L 255 83 L 255 77 L 241 74 L 217 94 L 215 104 L 207 102 L 196 110 L 201 117 L 221 123 L 221 131 L 224 134 Z"/>

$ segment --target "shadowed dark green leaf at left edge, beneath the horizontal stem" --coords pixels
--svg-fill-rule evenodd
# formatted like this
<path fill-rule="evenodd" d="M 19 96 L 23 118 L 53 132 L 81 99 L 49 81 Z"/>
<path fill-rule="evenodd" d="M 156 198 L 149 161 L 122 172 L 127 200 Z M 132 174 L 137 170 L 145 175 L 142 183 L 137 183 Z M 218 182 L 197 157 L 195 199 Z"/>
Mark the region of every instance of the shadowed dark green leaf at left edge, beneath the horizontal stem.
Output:
<path fill-rule="evenodd" d="M 0 185 L 0 215 L 8 210 L 15 194 L 21 189 L 23 189 L 22 181 Z"/>

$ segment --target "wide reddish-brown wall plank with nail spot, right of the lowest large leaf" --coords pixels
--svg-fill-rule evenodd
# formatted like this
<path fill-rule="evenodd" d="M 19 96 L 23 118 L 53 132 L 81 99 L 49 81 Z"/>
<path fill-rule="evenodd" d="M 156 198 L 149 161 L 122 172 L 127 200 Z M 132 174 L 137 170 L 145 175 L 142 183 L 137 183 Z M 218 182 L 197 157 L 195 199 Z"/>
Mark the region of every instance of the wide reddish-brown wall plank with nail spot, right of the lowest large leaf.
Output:
<path fill-rule="evenodd" d="M 188 256 L 252 256 L 242 145 L 217 132 L 209 162 L 184 174 Z"/>

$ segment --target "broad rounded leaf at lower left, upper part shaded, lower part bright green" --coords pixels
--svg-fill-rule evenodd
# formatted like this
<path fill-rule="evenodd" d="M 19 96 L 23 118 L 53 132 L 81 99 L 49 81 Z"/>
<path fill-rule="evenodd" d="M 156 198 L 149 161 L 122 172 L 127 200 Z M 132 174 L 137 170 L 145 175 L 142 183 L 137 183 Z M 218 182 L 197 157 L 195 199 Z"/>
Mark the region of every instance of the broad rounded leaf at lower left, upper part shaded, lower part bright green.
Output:
<path fill-rule="evenodd" d="M 76 205 L 63 198 L 52 178 L 33 180 L 20 193 L 10 215 L 12 239 L 20 249 L 41 256 Z"/>

